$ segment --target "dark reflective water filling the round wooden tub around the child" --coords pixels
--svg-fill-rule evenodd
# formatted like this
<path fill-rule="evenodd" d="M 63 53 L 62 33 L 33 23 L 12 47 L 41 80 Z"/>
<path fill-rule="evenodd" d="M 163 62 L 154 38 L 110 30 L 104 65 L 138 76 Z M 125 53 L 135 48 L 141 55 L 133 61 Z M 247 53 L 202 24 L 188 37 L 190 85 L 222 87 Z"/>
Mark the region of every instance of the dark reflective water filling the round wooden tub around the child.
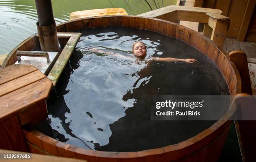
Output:
<path fill-rule="evenodd" d="M 83 35 L 76 51 L 47 100 L 49 118 L 37 125 L 38 130 L 57 140 L 85 149 L 118 152 L 176 144 L 214 121 L 151 121 L 151 96 L 229 95 L 218 68 L 180 40 L 126 27 L 77 32 Z M 198 62 L 148 64 L 128 59 L 135 40 L 146 44 L 145 60 L 174 57 Z"/>

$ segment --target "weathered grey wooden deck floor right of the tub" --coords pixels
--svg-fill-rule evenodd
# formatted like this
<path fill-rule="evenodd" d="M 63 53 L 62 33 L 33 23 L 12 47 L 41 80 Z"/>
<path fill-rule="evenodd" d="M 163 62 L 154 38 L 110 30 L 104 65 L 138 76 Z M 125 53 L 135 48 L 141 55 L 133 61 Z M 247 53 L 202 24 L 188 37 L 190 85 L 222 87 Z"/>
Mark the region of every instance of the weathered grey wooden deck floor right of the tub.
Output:
<path fill-rule="evenodd" d="M 235 50 L 245 52 L 250 71 L 251 88 L 253 95 L 256 95 L 256 42 L 240 42 L 235 38 L 226 37 L 223 50 L 227 53 Z"/>

